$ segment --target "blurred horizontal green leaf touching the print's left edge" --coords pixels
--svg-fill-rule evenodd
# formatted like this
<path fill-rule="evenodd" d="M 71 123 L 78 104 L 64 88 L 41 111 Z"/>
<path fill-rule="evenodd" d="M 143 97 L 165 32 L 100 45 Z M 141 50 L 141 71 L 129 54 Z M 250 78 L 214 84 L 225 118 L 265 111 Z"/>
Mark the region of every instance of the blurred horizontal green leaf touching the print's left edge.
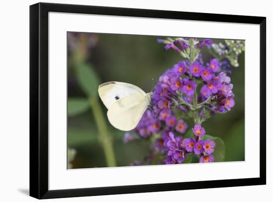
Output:
<path fill-rule="evenodd" d="M 68 116 L 79 115 L 88 108 L 89 104 L 86 98 L 68 98 Z"/>

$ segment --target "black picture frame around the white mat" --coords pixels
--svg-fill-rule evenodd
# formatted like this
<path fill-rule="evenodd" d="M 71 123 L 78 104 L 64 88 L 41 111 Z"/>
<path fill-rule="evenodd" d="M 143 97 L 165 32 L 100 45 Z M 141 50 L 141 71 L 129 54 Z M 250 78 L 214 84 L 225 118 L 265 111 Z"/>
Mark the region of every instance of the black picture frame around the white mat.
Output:
<path fill-rule="evenodd" d="M 48 13 L 68 12 L 260 25 L 260 177 L 84 189 L 48 189 Z M 30 196 L 37 199 L 266 184 L 266 17 L 56 3 L 30 5 Z"/>

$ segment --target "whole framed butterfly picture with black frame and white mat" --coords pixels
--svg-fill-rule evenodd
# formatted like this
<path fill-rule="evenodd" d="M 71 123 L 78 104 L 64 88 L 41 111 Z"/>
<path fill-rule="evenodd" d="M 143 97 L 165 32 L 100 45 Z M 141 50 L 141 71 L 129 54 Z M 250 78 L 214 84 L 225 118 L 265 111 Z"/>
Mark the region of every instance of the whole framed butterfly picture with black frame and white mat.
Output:
<path fill-rule="evenodd" d="M 266 17 L 30 6 L 30 196 L 266 184 Z"/>

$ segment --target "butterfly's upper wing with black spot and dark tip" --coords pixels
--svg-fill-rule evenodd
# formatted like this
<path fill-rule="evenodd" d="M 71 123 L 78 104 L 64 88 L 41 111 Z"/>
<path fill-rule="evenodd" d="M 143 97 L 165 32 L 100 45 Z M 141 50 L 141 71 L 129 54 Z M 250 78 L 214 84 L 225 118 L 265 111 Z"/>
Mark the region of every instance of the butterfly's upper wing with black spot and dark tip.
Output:
<path fill-rule="evenodd" d="M 98 92 L 107 109 L 109 109 L 115 102 L 126 96 L 136 94 L 145 95 L 145 92 L 139 87 L 130 83 L 117 81 L 110 81 L 99 85 Z"/>

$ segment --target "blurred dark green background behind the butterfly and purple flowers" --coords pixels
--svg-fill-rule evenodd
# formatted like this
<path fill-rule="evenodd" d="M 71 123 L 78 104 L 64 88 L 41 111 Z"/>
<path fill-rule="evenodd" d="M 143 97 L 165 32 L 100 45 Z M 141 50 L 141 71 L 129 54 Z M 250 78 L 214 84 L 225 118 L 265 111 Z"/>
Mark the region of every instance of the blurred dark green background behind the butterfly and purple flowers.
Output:
<path fill-rule="evenodd" d="M 164 50 L 156 42 L 158 36 L 98 34 L 68 32 L 68 138 L 73 148 L 72 168 L 107 167 L 102 138 L 113 142 L 116 166 L 128 166 L 150 153 L 149 141 L 123 143 L 125 132 L 112 127 L 106 116 L 107 109 L 97 95 L 98 84 L 107 81 L 132 83 L 145 92 L 151 91 L 159 76 L 173 67 L 181 56 L 173 50 Z M 161 37 L 164 38 L 164 37 Z M 212 39 L 213 43 L 224 40 Z M 204 62 L 209 62 L 206 48 Z M 221 137 L 225 142 L 225 161 L 244 160 L 244 52 L 239 56 L 239 67 L 232 67 L 235 106 L 226 114 L 217 114 L 202 125 L 206 133 Z M 94 113 L 99 116 L 94 117 Z M 99 126 L 97 122 L 105 123 Z M 189 128 L 192 120 L 187 120 Z M 102 132 L 108 134 L 103 136 Z M 106 143 L 107 144 L 107 143 Z M 68 150 L 68 155 L 71 153 Z M 111 160 L 110 160 L 111 161 Z"/>

